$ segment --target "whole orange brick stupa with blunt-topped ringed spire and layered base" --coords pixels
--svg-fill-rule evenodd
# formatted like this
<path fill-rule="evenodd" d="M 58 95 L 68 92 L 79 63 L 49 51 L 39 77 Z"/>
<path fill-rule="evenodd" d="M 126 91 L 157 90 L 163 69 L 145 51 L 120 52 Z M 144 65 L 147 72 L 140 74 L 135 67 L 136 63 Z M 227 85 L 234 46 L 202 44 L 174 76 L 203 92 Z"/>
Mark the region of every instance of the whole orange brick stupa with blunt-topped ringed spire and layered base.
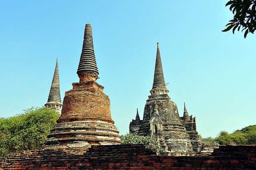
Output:
<path fill-rule="evenodd" d="M 110 100 L 96 82 L 99 72 L 90 24 L 85 26 L 77 74 L 80 81 L 72 83 L 73 89 L 65 93 L 61 116 L 48 135 L 46 148 L 120 144 L 119 131 L 110 115 Z"/>

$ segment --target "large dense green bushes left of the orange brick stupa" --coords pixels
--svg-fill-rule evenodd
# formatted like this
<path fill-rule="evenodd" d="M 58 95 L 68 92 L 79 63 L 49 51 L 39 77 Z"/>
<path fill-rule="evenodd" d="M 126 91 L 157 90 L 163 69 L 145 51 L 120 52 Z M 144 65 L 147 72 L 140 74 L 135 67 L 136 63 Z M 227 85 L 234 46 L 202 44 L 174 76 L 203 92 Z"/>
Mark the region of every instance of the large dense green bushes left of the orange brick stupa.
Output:
<path fill-rule="evenodd" d="M 59 118 L 50 108 L 30 108 L 9 118 L 0 118 L 0 157 L 20 150 L 44 147 L 50 130 Z"/>

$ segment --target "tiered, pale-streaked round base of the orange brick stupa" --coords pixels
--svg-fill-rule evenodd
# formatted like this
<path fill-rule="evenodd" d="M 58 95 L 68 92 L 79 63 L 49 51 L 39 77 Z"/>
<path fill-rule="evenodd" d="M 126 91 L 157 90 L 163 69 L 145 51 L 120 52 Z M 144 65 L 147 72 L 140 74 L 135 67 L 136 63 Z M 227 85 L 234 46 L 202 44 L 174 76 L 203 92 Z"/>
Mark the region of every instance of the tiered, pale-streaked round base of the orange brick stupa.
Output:
<path fill-rule="evenodd" d="M 88 148 L 91 145 L 121 144 L 118 133 L 112 123 L 100 120 L 62 122 L 51 130 L 45 148 Z"/>

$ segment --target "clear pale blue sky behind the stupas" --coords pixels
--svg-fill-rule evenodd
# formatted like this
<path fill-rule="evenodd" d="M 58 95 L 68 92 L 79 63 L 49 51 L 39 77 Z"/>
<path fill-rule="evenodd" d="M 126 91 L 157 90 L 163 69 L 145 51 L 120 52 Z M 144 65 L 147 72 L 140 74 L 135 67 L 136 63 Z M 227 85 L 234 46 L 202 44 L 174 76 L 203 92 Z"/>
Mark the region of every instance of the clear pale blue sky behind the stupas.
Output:
<path fill-rule="evenodd" d="M 0 2 L 0 116 L 43 106 L 56 57 L 62 100 L 78 82 L 84 25 L 112 118 L 128 132 L 143 117 L 152 88 L 156 42 L 179 114 L 186 102 L 203 137 L 256 124 L 256 35 L 221 32 L 232 18 L 225 0 Z"/>

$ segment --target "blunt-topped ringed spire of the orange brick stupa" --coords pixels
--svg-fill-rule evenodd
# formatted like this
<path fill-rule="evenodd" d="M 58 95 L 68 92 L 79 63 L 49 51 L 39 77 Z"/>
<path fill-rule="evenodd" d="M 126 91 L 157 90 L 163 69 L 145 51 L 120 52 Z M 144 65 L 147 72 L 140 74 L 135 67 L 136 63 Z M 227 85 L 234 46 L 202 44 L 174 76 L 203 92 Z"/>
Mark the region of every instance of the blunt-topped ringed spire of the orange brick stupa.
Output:
<path fill-rule="evenodd" d="M 82 46 L 82 53 L 80 57 L 80 62 L 77 69 L 77 74 L 80 77 L 86 74 L 88 78 L 88 73 L 90 74 L 90 78 L 95 81 L 98 78 L 98 67 L 96 63 L 96 58 L 94 54 L 94 47 L 93 47 L 93 39 L 92 39 L 92 26 L 90 24 L 85 25 L 84 29 L 84 42 Z M 88 78 L 88 80 L 82 81 L 90 81 L 92 79 Z"/>

